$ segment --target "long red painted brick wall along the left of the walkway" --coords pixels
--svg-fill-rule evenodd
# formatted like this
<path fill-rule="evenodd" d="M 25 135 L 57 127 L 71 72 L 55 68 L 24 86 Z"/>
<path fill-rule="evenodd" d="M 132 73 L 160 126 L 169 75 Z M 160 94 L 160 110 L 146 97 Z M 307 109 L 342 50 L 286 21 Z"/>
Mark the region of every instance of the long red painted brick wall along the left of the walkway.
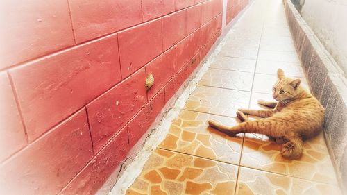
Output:
<path fill-rule="evenodd" d="M 0 194 L 94 194 L 222 28 L 223 0 L 0 6 Z"/>

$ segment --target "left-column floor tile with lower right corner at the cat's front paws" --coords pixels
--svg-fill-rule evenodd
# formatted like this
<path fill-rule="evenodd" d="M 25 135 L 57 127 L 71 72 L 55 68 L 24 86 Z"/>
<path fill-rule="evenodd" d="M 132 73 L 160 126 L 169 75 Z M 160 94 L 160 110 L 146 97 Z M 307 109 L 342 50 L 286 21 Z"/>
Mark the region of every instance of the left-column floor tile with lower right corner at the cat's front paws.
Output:
<path fill-rule="evenodd" d="M 251 92 L 198 85 L 185 103 L 185 110 L 235 117 L 238 108 L 248 108 Z"/>

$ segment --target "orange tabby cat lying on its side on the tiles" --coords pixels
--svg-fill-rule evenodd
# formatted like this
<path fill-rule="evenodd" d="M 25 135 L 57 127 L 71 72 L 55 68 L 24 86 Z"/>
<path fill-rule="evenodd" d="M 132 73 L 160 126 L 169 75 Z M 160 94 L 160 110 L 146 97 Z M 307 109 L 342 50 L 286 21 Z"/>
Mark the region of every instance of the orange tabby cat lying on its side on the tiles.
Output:
<path fill-rule="evenodd" d="M 301 87 L 300 79 L 287 78 L 282 69 L 277 71 L 278 80 L 273 86 L 273 99 L 277 102 L 259 100 L 269 110 L 239 109 L 237 126 L 223 126 L 208 121 L 212 128 L 235 136 L 238 133 L 260 133 L 283 144 L 282 156 L 298 159 L 303 153 L 303 141 L 318 135 L 323 127 L 324 108 L 319 101 Z M 261 117 L 250 121 L 245 115 Z"/>

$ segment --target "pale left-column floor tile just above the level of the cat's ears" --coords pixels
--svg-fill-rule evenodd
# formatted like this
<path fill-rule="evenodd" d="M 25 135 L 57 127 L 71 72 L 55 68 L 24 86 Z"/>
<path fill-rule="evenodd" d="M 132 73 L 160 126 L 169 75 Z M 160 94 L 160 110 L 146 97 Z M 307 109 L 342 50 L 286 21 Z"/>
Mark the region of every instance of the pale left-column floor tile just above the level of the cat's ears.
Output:
<path fill-rule="evenodd" d="M 254 72 L 255 60 L 217 56 L 210 67 L 216 69 Z"/>

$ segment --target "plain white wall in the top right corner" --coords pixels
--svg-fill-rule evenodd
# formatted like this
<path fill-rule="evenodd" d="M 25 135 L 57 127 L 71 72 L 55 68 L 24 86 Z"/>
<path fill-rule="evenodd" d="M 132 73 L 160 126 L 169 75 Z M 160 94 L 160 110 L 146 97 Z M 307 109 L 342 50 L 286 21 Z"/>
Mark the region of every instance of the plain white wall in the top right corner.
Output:
<path fill-rule="evenodd" d="M 347 0 L 305 0 L 301 15 L 347 75 Z"/>

